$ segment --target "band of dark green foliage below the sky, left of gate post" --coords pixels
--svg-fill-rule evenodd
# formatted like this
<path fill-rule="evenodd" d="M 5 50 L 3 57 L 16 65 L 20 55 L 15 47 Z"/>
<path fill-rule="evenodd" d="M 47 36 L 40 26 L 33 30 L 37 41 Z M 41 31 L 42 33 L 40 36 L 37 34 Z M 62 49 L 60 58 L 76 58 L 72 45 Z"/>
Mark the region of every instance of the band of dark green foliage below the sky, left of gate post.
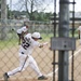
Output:
<path fill-rule="evenodd" d="M 33 11 L 32 13 L 29 13 L 30 15 L 28 15 L 28 13 L 26 11 L 11 11 L 8 8 L 8 18 L 11 17 L 15 17 L 17 18 L 18 16 L 21 17 L 22 15 L 25 15 L 27 17 L 30 17 L 30 21 L 41 21 L 41 22 L 48 22 L 50 21 L 50 17 L 53 16 L 52 13 L 44 13 L 44 12 L 38 12 L 38 11 Z"/>

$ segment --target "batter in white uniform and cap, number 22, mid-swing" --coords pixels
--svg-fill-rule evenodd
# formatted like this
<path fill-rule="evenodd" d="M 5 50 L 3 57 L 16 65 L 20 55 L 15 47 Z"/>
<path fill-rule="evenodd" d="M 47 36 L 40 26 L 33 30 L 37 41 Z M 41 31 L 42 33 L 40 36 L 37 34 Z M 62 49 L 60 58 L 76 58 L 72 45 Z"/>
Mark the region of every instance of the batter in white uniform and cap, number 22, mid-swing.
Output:
<path fill-rule="evenodd" d="M 40 72 L 36 60 L 31 56 L 32 50 L 36 46 L 43 48 L 43 45 L 48 44 L 48 42 L 39 43 L 38 42 L 39 39 L 42 39 L 40 37 L 39 32 L 33 32 L 32 35 L 31 33 L 27 33 L 24 37 L 24 41 L 23 41 L 23 43 L 21 45 L 19 54 L 18 54 L 19 55 L 19 66 L 17 68 L 15 68 L 14 70 L 12 70 L 12 71 L 5 72 L 3 75 L 4 81 L 8 81 L 8 78 L 10 76 L 13 76 L 13 75 L 15 75 L 17 72 L 21 72 L 21 71 L 25 70 L 27 66 L 30 66 L 36 71 L 36 73 L 38 75 L 38 80 L 45 80 L 45 79 L 48 79 L 45 76 L 43 76 Z"/>

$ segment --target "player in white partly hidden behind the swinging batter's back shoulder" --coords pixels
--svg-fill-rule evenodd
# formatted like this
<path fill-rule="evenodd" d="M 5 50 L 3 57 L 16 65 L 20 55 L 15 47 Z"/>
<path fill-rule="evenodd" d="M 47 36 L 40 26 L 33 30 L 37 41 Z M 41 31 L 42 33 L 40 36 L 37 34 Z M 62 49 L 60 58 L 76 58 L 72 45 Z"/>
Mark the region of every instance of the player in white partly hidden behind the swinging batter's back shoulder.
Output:
<path fill-rule="evenodd" d="M 17 29 L 17 36 L 18 36 L 18 44 L 21 44 L 21 41 L 24 40 L 24 35 L 28 32 L 28 26 L 23 26 L 22 28 Z"/>

